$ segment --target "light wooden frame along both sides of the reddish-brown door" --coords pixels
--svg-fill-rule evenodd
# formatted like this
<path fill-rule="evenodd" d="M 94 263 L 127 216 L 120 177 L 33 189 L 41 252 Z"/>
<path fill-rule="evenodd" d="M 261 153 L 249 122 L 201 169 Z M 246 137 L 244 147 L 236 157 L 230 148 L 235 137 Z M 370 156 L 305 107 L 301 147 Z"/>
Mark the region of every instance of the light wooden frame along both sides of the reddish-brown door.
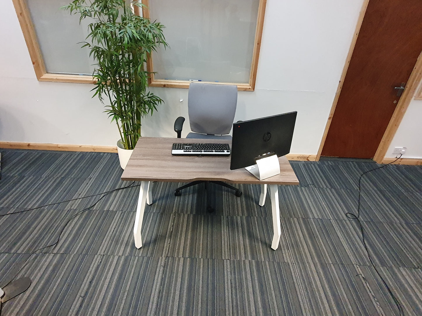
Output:
<path fill-rule="evenodd" d="M 337 91 L 335 92 L 335 97 L 333 100 L 333 105 L 331 106 L 330 115 L 328 115 L 327 124 L 325 125 L 324 134 L 322 134 L 321 144 L 319 145 L 316 161 L 319 161 L 319 157 L 322 153 L 322 148 L 325 144 L 325 139 L 327 138 L 328 130 L 330 129 L 331 121 L 333 119 L 335 107 L 337 106 L 338 97 L 341 93 L 341 88 L 343 87 L 344 78 L 346 77 L 347 69 L 349 68 L 350 60 L 352 59 L 352 54 L 354 46 L 356 45 L 356 40 L 359 35 L 360 27 L 362 26 L 363 17 L 365 16 L 366 8 L 368 7 L 369 0 L 364 0 L 362 3 L 362 8 L 360 9 L 359 18 L 357 19 L 356 29 L 352 38 L 352 43 L 350 44 L 349 53 L 347 54 L 346 63 L 343 67 L 343 72 L 341 73 L 341 78 L 338 83 Z M 382 163 L 387 153 L 388 148 L 392 142 L 392 139 L 395 136 L 395 133 L 398 130 L 400 122 L 402 121 L 406 110 L 413 99 L 416 89 L 419 86 L 420 81 L 422 80 L 422 52 L 419 54 L 417 62 L 411 72 L 411 75 L 406 83 L 406 87 L 403 90 L 397 106 L 393 112 L 393 115 L 388 123 L 387 129 L 384 132 L 384 136 L 381 139 L 381 142 L 378 145 L 378 149 L 373 157 L 373 160 L 377 163 Z"/>

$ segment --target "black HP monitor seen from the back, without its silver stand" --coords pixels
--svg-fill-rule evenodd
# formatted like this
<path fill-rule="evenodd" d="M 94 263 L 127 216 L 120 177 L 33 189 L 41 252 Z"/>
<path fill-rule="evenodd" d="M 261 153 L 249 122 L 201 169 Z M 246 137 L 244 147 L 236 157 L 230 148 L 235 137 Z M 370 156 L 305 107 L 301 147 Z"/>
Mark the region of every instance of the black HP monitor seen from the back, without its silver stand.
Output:
<path fill-rule="evenodd" d="M 233 124 L 230 170 L 254 165 L 269 153 L 287 155 L 292 145 L 297 111 Z"/>

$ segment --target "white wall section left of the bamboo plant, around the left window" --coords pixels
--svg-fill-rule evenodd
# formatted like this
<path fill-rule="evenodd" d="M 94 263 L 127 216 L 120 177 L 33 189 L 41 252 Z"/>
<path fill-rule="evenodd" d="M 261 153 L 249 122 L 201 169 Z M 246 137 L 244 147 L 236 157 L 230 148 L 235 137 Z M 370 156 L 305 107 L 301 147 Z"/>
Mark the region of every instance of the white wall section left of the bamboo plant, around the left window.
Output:
<path fill-rule="evenodd" d="M 91 85 L 39 82 L 11 0 L 0 12 L 0 141 L 115 145 Z"/>

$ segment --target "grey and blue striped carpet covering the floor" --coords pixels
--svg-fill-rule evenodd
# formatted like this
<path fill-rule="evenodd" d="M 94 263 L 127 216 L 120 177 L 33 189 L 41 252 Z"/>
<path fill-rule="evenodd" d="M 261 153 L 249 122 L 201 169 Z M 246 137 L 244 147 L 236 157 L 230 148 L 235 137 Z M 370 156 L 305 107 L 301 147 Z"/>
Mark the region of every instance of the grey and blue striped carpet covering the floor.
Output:
<path fill-rule="evenodd" d="M 130 185 L 116 154 L 1 150 L 0 214 Z M 0 287 L 18 272 L 31 287 L 3 304 L 12 315 L 398 315 L 368 260 L 356 213 L 370 161 L 292 162 L 299 186 L 280 186 L 282 236 L 273 251 L 271 202 L 211 185 L 175 197 L 154 182 L 143 242 L 138 187 L 0 217 Z M 362 179 L 361 220 L 376 269 L 405 315 L 422 315 L 422 167 L 390 165 Z"/>

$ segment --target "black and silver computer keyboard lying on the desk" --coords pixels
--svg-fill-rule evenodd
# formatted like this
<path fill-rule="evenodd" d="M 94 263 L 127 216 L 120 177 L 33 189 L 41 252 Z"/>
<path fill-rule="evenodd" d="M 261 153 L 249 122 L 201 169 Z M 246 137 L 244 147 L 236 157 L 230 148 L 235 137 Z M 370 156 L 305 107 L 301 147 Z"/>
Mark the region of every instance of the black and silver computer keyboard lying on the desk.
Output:
<path fill-rule="evenodd" d="M 171 148 L 171 154 L 228 156 L 230 155 L 230 147 L 229 144 L 174 143 Z"/>

